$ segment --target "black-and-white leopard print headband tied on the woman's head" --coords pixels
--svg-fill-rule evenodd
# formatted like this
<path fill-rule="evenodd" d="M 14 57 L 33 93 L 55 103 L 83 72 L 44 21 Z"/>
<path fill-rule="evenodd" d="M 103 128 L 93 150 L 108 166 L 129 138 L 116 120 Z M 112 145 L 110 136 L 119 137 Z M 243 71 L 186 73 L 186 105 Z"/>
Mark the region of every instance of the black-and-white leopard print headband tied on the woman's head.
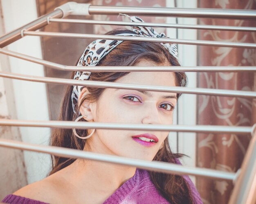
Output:
<path fill-rule="evenodd" d="M 122 14 L 130 18 L 131 22 L 144 22 L 141 18 L 137 16 L 130 17 L 129 15 Z M 144 26 L 131 26 L 132 33 L 121 33 L 117 35 L 121 36 L 143 36 L 143 37 L 166 37 L 164 33 L 158 34 L 152 27 L 144 27 Z M 80 57 L 78 64 L 76 66 L 96 66 L 99 61 L 107 55 L 112 49 L 118 46 L 123 40 L 110 40 L 110 39 L 97 39 L 93 41 L 91 44 L 83 52 L 82 56 Z M 173 57 L 178 60 L 178 52 L 177 52 L 177 45 L 176 44 L 169 44 L 169 43 L 160 43 L 164 46 Z M 74 79 L 76 80 L 86 80 L 89 78 L 91 72 L 75 72 Z M 73 112 L 76 113 L 75 106 L 78 103 L 79 94 L 83 86 L 74 86 L 73 92 L 71 95 L 72 100 L 72 107 Z M 79 112 L 80 115 L 80 112 Z"/>

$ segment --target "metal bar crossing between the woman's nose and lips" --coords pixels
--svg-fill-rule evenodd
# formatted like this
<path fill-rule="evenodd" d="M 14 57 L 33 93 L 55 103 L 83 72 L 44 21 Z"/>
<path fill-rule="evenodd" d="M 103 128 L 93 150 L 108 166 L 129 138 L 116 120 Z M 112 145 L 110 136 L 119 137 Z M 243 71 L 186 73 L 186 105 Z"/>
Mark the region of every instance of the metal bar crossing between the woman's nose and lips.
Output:
<path fill-rule="evenodd" d="M 0 119 L 0 125 L 24 126 L 24 127 L 54 127 L 54 128 L 77 128 L 77 129 L 131 129 L 131 130 L 154 130 L 170 132 L 200 132 L 200 133 L 236 133 L 250 134 L 250 126 L 224 126 L 224 125 L 157 125 L 135 123 L 96 123 L 96 122 L 73 122 L 73 121 L 25 121 Z"/>

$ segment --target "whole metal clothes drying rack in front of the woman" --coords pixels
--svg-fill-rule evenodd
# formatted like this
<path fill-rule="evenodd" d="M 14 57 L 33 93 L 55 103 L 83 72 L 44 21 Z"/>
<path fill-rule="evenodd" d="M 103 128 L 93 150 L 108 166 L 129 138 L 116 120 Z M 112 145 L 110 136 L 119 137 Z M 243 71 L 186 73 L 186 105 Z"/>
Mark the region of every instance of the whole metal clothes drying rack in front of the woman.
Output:
<path fill-rule="evenodd" d="M 26 24 L 10 33 L 0 37 L 0 53 L 17 57 L 34 63 L 42 64 L 59 70 L 67 71 L 186 71 L 186 72 L 256 72 L 256 66 L 201 66 L 201 67 L 183 67 L 183 66 L 157 66 L 156 67 L 137 67 L 137 66 L 96 66 L 77 67 L 65 66 L 56 64 L 36 57 L 23 55 L 11 50 L 4 49 L 4 46 L 15 42 L 16 40 L 27 35 L 34 36 L 50 36 L 50 37 L 77 37 L 90 39 L 119 39 L 119 40 L 136 40 L 149 42 L 165 42 L 177 44 L 190 45 L 205 45 L 205 46 L 225 46 L 225 47 L 240 47 L 240 48 L 256 48 L 253 43 L 235 43 L 235 42 L 216 42 L 205 40 L 186 40 L 186 39 L 160 39 L 160 38 L 144 38 L 144 37 L 124 37 L 115 35 L 92 35 L 92 34 L 76 34 L 76 33 L 53 33 L 36 31 L 43 26 L 52 22 L 69 22 L 80 24 L 108 24 L 108 25 L 139 25 L 139 26 L 155 26 L 165 28 L 179 28 L 179 29 L 209 29 L 209 30 L 226 30 L 226 31 L 251 31 L 255 32 L 254 27 L 238 27 L 238 26 L 211 26 L 211 25 L 185 25 L 185 24 L 159 24 L 159 23 L 135 23 L 135 22 L 115 22 L 115 21 L 97 21 L 97 20 L 74 20 L 62 19 L 68 15 L 118 15 L 119 13 L 126 13 L 128 15 L 149 15 L 149 16 L 165 16 L 165 17 L 191 17 L 191 18 L 225 18 L 225 19 L 256 19 L 256 11 L 254 10 L 234 10 L 234 9 L 177 9 L 177 8 L 150 8 L 150 7 L 108 7 L 108 6 L 94 6 L 91 4 L 78 4 L 76 2 L 68 2 L 54 11 L 43 15 L 37 20 Z M 256 92 L 252 91 L 236 91 L 236 90 L 219 90 L 206 88 L 184 88 L 184 87 L 164 87 L 164 86 L 145 86 L 139 84 L 124 84 L 103 81 L 78 81 L 72 79 L 60 79 L 50 77 L 36 77 L 21 74 L 14 74 L 9 72 L 0 72 L 1 77 L 11 79 L 20 79 L 27 81 L 36 81 L 44 83 L 58 83 L 68 85 L 83 85 L 101 88 L 123 88 L 136 90 L 150 90 L 161 92 L 177 92 L 187 94 L 205 94 L 213 96 L 228 96 L 228 97 L 244 97 L 256 98 Z M 189 174 L 196 176 L 203 176 L 214 179 L 233 180 L 234 190 L 231 194 L 229 204 L 254 204 L 256 203 L 256 124 L 253 127 L 232 127 L 221 125 L 142 125 L 142 124 L 128 124 L 128 123 L 83 123 L 72 121 L 24 121 L 24 120 L 0 120 L 0 125 L 8 126 L 29 126 L 29 127 L 55 127 L 55 128 L 98 128 L 98 129 L 132 129 L 132 130 L 158 130 L 158 131 L 175 131 L 175 132 L 211 132 L 211 133 L 239 133 L 252 134 L 249 147 L 245 154 L 241 169 L 236 173 L 217 171 L 213 169 L 205 169 L 198 167 L 184 167 L 166 162 L 144 161 L 131 158 L 123 158 L 118 156 L 110 156 L 104 154 L 97 154 L 92 152 L 85 152 L 81 150 L 68 149 L 63 147 L 50 147 L 44 145 L 34 145 L 22 143 L 19 141 L 0 139 L 0 146 L 11 147 L 15 149 L 24 149 L 29 151 L 49 153 L 56 156 L 69 158 L 84 158 L 90 160 L 98 160 L 102 162 L 111 162 L 123 165 L 131 165 L 143 169 L 154 170 L 164 173 L 175 174 Z"/>

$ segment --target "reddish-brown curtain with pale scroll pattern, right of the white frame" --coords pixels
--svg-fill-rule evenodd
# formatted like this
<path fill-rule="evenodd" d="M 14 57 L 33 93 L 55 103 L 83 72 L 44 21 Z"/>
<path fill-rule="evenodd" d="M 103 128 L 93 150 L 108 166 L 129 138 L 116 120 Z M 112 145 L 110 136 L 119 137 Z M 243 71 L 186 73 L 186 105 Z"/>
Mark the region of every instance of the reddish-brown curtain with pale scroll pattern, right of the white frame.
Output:
<path fill-rule="evenodd" d="M 256 9 L 255 0 L 202 0 L 200 8 Z M 255 26 L 253 20 L 201 19 L 200 24 Z M 198 39 L 256 43 L 255 32 L 198 31 Z M 256 66 L 256 50 L 249 48 L 198 47 L 198 66 Z M 198 73 L 198 87 L 256 91 L 256 73 Z M 256 100 L 198 96 L 200 125 L 252 126 L 256 123 Z M 236 172 L 243 162 L 251 136 L 239 134 L 198 134 L 197 166 Z M 197 178 L 205 204 L 227 204 L 233 184 L 227 180 Z"/>

